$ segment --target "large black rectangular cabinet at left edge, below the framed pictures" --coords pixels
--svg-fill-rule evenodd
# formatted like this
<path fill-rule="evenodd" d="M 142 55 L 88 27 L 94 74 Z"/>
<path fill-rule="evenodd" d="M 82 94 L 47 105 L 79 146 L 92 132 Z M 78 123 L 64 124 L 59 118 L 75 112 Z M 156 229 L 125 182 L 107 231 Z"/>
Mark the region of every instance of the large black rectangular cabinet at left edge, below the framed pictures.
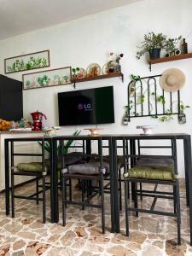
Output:
<path fill-rule="evenodd" d="M 0 75 L 0 119 L 17 121 L 22 117 L 22 83 Z"/>

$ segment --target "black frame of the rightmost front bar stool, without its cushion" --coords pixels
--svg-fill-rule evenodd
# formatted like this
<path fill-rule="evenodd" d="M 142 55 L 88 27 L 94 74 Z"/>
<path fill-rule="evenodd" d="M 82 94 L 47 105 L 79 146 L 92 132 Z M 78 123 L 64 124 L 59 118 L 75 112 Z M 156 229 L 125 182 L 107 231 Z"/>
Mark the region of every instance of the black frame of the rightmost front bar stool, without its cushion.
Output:
<path fill-rule="evenodd" d="M 177 144 L 176 139 L 172 139 L 172 146 L 165 147 L 165 148 L 172 148 L 172 155 L 170 156 L 157 156 L 157 155 L 147 155 L 147 157 L 155 157 L 155 158 L 172 158 L 174 161 L 174 174 L 177 175 Z M 158 146 L 144 146 L 141 147 L 140 143 L 138 143 L 138 152 L 139 154 L 128 154 L 126 148 L 126 141 L 125 138 L 123 139 L 123 151 L 124 151 L 124 168 L 125 172 L 127 172 L 127 157 L 133 158 L 134 161 L 137 160 L 137 157 L 142 157 L 140 154 L 140 148 L 158 148 Z M 162 147 L 160 147 L 162 148 Z M 143 155 L 144 157 L 144 155 Z M 129 198 L 128 198 L 128 185 L 129 183 L 134 184 L 135 191 L 134 191 L 134 207 L 129 207 Z M 154 190 L 143 190 L 140 186 L 140 189 L 137 189 L 137 183 L 154 183 Z M 164 192 L 164 191 L 157 191 L 158 184 L 166 184 L 172 185 L 173 193 L 172 192 Z M 133 192 L 133 189 L 132 189 Z M 149 196 L 154 197 L 154 201 L 150 207 L 150 209 L 139 209 L 137 205 L 137 196 Z M 174 201 L 174 212 L 162 212 L 162 211 L 155 211 L 155 203 L 158 198 L 166 198 L 172 199 Z M 125 225 L 126 225 L 126 236 L 129 236 L 129 212 L 136 212 L 136 216 L 138 216 L 138 212 L 146 212 L 151 214 L 158 214 L 158 215 L 165 215 L 165 216 L 172 216 L 177 218 L 177 244 L 181 244 L 181 216 L 180 216 L 180 196 L 179 196 L 179 181 L 178 178 L 170 180 L 170 181 L 162 181 L 162 180 L 154 180 L 154 179 L 143 179 L 143 178 L 132 178 L 132 177 L 125 177 Z"/>

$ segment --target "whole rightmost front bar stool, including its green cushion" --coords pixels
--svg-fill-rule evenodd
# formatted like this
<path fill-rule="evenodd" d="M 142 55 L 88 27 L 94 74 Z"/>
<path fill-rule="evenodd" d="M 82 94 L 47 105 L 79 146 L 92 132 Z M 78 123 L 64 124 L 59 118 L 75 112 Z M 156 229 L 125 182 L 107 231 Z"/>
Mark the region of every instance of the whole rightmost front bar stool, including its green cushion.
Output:
<path fill-rule="evenodd" d="M 171 140 L 172 145 L 164 148 L 171 148 L 171 155 L 134 155 L 127 154 L 125 150 L 125 139 L 123 140 L 123 151 L 124 151 L 124 167 L 125 167 L 125 225 L 126 225 L 126 236 L 129 236 L 129 215 L 130 212 L 150 213 L 164 216 L 171 216 L 177 218 L 177 244 L 181 244 L 181 216 L 180 216 L 180 195 L 179 195 L 179 181 L 177 173 L 177 145 L 176 140 Z M 145 146 L 143 148 L 153 148 L 153 146 Z M 154 146 L 158 148 L 158 146 Z M 160 148 L 163 148 L 162 146 Z M 135 166 L 127 170 L 127 156 L 134 157 L 136 159 Z M 130 207 L 130 200 L 128 198 L 128 184 L 135 183 L 134 191 L 134 207 Z M 149 189 L 137 189 L 137 183 L 150 183 L 154 184 L 154 190 Z M 173 192 L 157 191 L 159 184 L 172 186 Z M 137 196 L 143 195 L 154 198 L 154 201 L 150 209 L 138 208 Z M 163 212 L 154 210 L 156 201 L 158 198 L 172 199 L 174 212 Z"/>

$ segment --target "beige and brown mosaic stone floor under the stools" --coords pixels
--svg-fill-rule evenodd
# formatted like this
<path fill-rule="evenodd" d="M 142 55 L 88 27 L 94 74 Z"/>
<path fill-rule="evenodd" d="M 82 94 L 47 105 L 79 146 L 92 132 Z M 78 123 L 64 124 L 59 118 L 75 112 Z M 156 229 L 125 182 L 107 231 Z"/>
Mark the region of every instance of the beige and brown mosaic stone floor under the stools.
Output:
<path fill-rule="evenodd" d="M 22 192 L 32 191 L 32 185 L 22 187 Z M 164 188 L 163 188 L 164 189 Z M 16 189 L 17 192 L 21 188 Z M 167 190 L 167 189 L 166 189 Z M 189 247 L 189 209 L 185 206 L 183 181 L 181 190 L 182 246 L 177 247 L 177 225 L 174 218 L 139 214 L 131 216 L 131 234 L 125 236 L 125 214 L 120 215 L 121 233 L 110 233 L 109 195 L 106 200 L 105 235 L 101 232 L 101 214 L 98 209 L 67 207 L 67 226 L 49 222 L 42 224 L 42 206 L 35 201 L 15 200 L 15 218 L 4 212 L 4 195 L 0 195 L 0 255 L 1 256 L 161 256 L 192 255 Z M 73 195 L 78 198 L 79 191 Z M 49 191 L 47 192 L 49 201 Z M 96 199 L 95 199 L 96 200 Z M 143 200 L 149 206 L 150 200 Z M 171 201 L 157 201 L 156 209 L 172 209 Z M 61 211 L 60 211 L 61 212 Z M 61 217 L 61 216 L 60 216 Z"/>

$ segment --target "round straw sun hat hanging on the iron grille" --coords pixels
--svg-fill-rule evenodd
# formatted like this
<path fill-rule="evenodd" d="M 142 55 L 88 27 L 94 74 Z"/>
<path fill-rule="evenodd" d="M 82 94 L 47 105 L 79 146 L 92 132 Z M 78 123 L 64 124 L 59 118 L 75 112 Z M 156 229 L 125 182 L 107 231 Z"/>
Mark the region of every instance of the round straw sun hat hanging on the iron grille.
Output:
<path fill-rule="evenodd" d="M 160 77 L 160 86 L 163 90 L 174 92 L 185 84 L 185 75 L 178 68 L 169 68 Z"/>

